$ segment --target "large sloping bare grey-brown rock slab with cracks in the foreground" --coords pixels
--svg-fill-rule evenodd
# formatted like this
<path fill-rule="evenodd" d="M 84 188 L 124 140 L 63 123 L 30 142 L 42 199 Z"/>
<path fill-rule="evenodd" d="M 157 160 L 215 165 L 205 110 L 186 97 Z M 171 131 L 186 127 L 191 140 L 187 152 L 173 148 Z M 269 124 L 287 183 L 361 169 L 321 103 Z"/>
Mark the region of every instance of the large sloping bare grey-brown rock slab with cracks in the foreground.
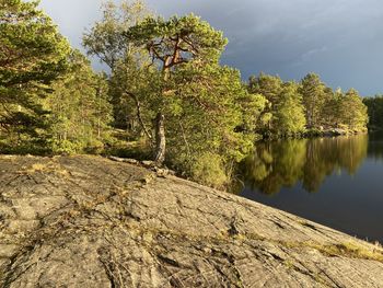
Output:
<path fill-rule="evenodd" d="M 383 284 L 379 245 L 170 174 L 84 155 L 0 171 L 0 287 Z"/>

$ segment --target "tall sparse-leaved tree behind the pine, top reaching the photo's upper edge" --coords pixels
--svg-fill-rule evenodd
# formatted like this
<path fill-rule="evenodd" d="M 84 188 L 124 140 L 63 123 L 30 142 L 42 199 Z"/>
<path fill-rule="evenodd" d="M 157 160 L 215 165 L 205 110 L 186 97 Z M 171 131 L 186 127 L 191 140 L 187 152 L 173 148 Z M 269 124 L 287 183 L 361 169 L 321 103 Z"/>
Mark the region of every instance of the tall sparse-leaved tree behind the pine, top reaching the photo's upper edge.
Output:
<path fill-rule="evenodd" d="M 121 1 L 119 5 L 107 1 L 103 5 L 103 19 L 84 34 L 83 45 L 88 55 L 97 57 L 111 69 L 109 94 L 114 126 L 135 131 L 136 123 L 142 123 L 139 120 L 143 117 L 139 101 L 142 91 L 139 90 L 146 83 L 150 59 L 140 45 L 127 41 L 124 32 L 150 12 L 140 0 Z"/>

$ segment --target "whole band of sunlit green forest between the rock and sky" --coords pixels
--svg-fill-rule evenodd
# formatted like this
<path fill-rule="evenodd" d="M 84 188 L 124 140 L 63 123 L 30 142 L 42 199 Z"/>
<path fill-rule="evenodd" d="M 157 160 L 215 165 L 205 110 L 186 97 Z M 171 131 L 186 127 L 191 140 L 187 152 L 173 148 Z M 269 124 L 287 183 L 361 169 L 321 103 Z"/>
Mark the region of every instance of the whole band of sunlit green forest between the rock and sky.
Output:
<path fill-rule="evenodd" d="M 222 188 L 260 139 L 362 133 L 369 118 L 383 127 L 382 96 L 316 73 L 244 81 L 220 62 L 223 33 L 199 16 L 164 19 L 140 0 L 102 9 L 83 55 L 37 1 L 0 2 L 1 153 L 151 159 Z"/>

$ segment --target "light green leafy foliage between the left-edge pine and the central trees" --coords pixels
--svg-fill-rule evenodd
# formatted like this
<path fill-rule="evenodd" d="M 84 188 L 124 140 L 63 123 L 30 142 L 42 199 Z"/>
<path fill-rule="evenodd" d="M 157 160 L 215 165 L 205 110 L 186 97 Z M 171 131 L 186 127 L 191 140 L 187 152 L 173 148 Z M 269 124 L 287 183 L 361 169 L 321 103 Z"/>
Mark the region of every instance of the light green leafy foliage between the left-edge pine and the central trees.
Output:
<path fill-rule="evenodd" d="M 73 50 L 65 77 L 51 85 L 54 92 L 45 100 L 51 112 L 53 151 L 57 153 L 101 152 L 111 140 L 105 76 L 92 71 L 90 61 Z"/>

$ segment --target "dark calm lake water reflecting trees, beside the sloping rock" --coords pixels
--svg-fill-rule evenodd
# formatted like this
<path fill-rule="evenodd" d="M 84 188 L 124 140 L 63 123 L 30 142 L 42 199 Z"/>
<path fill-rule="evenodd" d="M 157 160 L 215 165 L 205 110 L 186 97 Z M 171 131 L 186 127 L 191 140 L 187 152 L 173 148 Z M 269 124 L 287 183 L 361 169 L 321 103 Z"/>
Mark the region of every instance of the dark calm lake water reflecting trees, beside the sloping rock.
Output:
<path fill-rule="evenodd" d="M 383 135 L 263 142 L 242 196 L 383 243 Z"/>

